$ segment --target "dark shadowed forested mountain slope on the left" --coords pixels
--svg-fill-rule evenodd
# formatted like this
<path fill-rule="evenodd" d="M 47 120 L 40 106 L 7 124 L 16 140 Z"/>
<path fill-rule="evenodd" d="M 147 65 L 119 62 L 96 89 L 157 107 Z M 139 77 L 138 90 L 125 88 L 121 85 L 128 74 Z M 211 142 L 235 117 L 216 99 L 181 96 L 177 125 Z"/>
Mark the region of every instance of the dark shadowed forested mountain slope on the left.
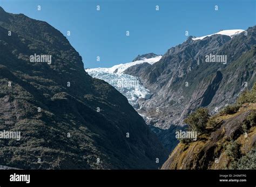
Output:
<path fill-rule="evenodd" d="M 35 54 L 51 56 L 51 63 L 31 62 Z M 21 140 L 0 139 L 0 164 L 21 169 L 153 169 L 166 158 L 142 117 L 84 71 L 62 33 L 0 8 L 4 130 L 21 132 Z"/>

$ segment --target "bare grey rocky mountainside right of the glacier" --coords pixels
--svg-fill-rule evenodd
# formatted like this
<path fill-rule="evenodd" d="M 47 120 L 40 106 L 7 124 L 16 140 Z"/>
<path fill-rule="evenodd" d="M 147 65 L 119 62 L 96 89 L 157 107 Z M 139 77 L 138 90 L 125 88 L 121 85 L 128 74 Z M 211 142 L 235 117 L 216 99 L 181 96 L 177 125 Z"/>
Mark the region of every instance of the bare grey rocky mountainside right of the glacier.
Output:
<path fill-rule="evenodd" d="M 140 100 L 139 113 L 147 123 L 162 129 L 183 124 L 183 119 L 198 107 L 211 113 L 233 103 L 246 84 L 255 82 L 256 26 L 235 35 L 212 35 L 202 40 L 189 37 L 170 48 L 159 62 L 139 64 L 125 73 L 138 76 L 153 93 Z M 226 62 L 205 62 L 206 55 L 226 55 Z"/>

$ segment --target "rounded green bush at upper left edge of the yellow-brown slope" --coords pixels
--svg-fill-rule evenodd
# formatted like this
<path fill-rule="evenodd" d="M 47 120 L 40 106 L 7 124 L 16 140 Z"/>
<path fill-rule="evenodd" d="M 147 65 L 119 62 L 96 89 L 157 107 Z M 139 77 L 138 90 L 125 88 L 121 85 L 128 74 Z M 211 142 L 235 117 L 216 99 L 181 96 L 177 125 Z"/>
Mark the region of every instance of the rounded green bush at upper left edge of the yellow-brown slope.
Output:
<path fill-rule="evenodd" d="M 208 110 L 204 108 L 197 109 L 196 112 L 190 114 L 184 122 L 192 128 L 192 130 L 197 131 L 198 133 L 206 132 L 206 124 L 209 120 L 210 115 Z"/>

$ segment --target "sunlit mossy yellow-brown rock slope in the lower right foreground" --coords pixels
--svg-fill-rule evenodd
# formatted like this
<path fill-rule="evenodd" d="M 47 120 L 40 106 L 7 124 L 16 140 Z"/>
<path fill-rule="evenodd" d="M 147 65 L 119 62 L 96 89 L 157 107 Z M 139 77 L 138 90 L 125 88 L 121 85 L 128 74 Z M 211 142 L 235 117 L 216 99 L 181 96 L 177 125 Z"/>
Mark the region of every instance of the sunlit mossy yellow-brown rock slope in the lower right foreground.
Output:
<path fill-rule="evenodd" d="M 214 119 L 217 124 L 209 133 L 199 135 L 197 141 L 180 142 L 161 169 L 256 169 L 256 103 Z M 248 119 L 253 124 L 245 133 Z"/>

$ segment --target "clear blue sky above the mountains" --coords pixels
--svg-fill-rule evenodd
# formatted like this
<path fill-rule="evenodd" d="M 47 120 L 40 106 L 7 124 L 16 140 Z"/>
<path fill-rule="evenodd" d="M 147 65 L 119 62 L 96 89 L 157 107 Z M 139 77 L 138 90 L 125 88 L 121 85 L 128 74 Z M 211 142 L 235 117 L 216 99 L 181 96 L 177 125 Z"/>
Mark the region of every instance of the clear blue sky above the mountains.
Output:
<path fill-rule="evenodd" d="M 66 37 L 85 68 L 112 67 L 138 54 L 164 54 L 186 40 L 185 31 L 200 37 L 256 23 L 255 0 L 0 0 L 0 6 L 47 21 L 64 35 L 71 31 Z"/>

